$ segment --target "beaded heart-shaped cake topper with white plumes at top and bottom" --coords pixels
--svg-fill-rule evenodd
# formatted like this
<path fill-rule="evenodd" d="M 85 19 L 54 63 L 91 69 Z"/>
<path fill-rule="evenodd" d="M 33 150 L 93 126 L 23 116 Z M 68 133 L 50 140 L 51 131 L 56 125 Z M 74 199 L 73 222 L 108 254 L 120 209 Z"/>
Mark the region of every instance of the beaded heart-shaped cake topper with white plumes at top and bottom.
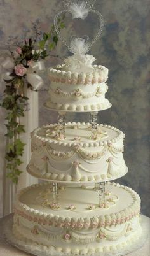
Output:
<path fill-rule="evenodd" d="M 102 33 L 102 29 L 104 27 L 104 21 L 101 13 L 95 10 L 93 8 L 93 4 L 90 5 L 89 2 L 90 1 L 78 1 L 78 3 L 72 3 L 72 0 L 69 0 L 69 2 L 64 1 L 66 10 L 60 11 L 54 18 L 55 31 L 57 32 L 58 37 L 61 39 L 62 43 L 67 46 L 68 50 L 74 54 L 85 54 L 89 52 L 92 45 L 97 41 L 97 39 L 99 39 L 100 34 Z M 95 38 L 93 38 L 93 40 L 90 42 L 88 36 L 83 36 L 83 38 L 78 38 L 78 36 L 72 36 L 71 45 L 67 45 L 67 41 L 65 41 L 58 29 L 58 19 L 61 15 L 65 13 L 71 13 L 72 19 L 81 18 L 82 20 L 85 20 L 85 18 L 88 16 L 88 13 L 95 13 L 99 17 L 100 22 L 99 31 L 97 32 Z"/>

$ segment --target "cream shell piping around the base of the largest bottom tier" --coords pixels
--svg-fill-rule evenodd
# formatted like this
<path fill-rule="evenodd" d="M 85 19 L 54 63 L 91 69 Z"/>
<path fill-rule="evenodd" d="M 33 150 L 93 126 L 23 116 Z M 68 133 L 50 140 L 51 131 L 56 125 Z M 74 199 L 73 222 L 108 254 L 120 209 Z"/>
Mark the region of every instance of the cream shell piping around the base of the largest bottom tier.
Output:
<path fill-rule="evenodd" d="M 13 234 L 15 238 L 18 239 L 18 243 L 22 245 L 22 241 L 24 241 L 27 245 L 32 245 L 37 248 L 37 243 L 32 241 L 31 239 L 25 238 L 20 232 L 18 232 L 16 229 L 13 229 Z M 97 248 L 94 248 L 91 246 L 91 248 L 75 248 L 71 249 L 69 246 L 67 248 L 62 247 L 55 247 L 55 246 L 46 246 L 46 245 L 38 245 L 38 249 L 41 250 L 41 252 L 51 253 L 51 255 L 55 253 L 69 253 L 69 255 L 86 255 L 87 253 L 117 253 L 120 252 L 120 250 L 125 250 L 127 246 L 132 245 L 135 243 L 135 241 L 138 241 L 140 236 L 142 235 L 142 228 L 139 227 L 137 231 L 133 232 L 132 235 L 128 239 L 126 239 L 125 242 L 118 243 L 117 245 L 108 245 L 108 246 L 99 246 Z M 20 243 L 21 242 L 21 243 Z M 16 241 L 15 241 L 16 243 Z M 35 250 L 35 249 L 33 249 Z M 51 252 L 50 252 L 51 250 Z M 49 255 L 49 254 L 48 254 Z"/>

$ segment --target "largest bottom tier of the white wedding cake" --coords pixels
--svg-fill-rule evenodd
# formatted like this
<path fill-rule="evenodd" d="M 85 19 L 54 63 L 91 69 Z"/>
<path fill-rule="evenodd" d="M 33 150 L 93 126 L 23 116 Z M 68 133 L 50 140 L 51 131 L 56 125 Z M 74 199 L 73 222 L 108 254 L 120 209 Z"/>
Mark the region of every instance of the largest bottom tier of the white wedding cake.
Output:
<path fill-rule="evenodd" d="M 53 203 L 50 183 L 21 190 L 13 234 L 69 255 L 115 252 L 140 238 L 140 197 L 131 188 L 107 183 L 105 203 L 93 187 L 60 187 Z"/>

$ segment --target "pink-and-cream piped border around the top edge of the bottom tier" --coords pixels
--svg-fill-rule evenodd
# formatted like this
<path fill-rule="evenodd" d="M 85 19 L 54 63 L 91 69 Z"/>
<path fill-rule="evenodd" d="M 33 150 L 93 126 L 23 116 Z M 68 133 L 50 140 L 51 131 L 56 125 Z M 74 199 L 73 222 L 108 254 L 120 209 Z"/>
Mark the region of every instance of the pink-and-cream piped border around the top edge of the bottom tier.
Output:
<path fill-rule="evenodd" d="M 49 184 L 49 183 L 48 183 Z M 109 185 L 113 185 L 114 187 L 120 187 L 125 189 L 128 193 L 130 193 L 134 199 L 134 203 L 131 204 L 131 206 L 128 206 L 125 208 L 125 210 L 121 210 L 118 213 L 110 214 L 110 215 L 104 215 L 100 217 L 91 217 L 91 218 L 82 218 L 82 224 L 83 229 L 92 228 L 93 222 L 95 222 L 95 218 L 97 218 L 97 227 L 105 227 L 107 225 L 117 225 L 121 223 L 125 223 L 126 221 L 130 220 L 131 218 L 135 217 L 136 215 L 139 215 L 140 213 L 140 197 L 139 195 L 132 190 L 132 188 L 128 188 L 123 185 L 119 185 L 118 183 L 110 183 L 107 182 Z M 17 193 L 17 198 L 15 202 L 15 213 L 18 215 L 27 218 L 30 221 L 38 222 L 39 224 L 48 224 L 48 225 L 54 225 L 57 223 L 60 225 L 60 227 L 67 228 L 68 225 L 72 227 L 72 229 L 78 229 L 78 223 L 81 222 L 80 218 L 71 218 L 71 217 L 59 217 L 59 215 L 53 215 L 40 212 L 38 210 L 34 210 L 32 208 L 29 208 L 26 204 L 21 203 L 20 196 L 24 194 L 25 192 L 31 190 L 35 187 L 42 187 L 44 184 L 35 184 L 31 185 L 27 188 L 24 188 L 20 190 L 20 192 Z M 86 224 L 88 222 L 88 227 L 86 227 Z M 95 227 L 94 227 L 95 228 Z"/>

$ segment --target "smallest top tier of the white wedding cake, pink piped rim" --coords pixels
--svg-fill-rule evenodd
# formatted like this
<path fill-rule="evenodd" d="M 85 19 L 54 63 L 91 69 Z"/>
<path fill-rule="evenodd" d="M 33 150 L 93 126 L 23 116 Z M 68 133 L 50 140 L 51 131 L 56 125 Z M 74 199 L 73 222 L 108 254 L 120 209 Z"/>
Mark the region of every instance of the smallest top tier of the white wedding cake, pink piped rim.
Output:
<path fill-rule="evenodd" d="M 64 64 L 50 68 L 48 74 L 51 84 L 46 106 L 51 110 L 91 112 L 111 107 L 105 98 L 108 69 L 104 66 L 67 69 Z"/>

